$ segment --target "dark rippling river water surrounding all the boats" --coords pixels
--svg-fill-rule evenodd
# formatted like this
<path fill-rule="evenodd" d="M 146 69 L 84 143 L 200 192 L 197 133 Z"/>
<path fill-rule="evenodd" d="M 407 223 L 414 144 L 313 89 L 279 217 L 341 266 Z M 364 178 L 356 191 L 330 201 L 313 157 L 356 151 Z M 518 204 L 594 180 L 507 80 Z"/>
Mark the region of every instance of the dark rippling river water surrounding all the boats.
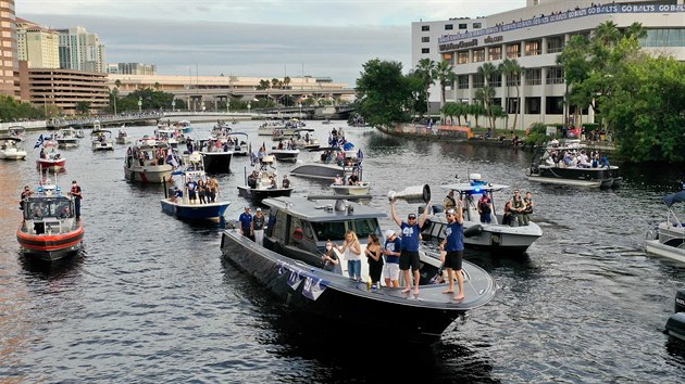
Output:
<path fill-rule="evenodd" d="M 258 125 L 236 125 L 251 132 L 256 148 L 266 139 L 256 136 Z M 211 126 L 196 124 L 191 136 L 204 137 Z M 344 121 L 308 121 L 322 141 L 338 126 Z M 134 138 L 153 130 L 128 128 Z M 25 162 L 0 163 L 0 381 L 685 380 L 685 347 L 663 333 L 685 266 L 642 249 L 645 232 L 664 217 L 662 196 L 680 189 L 682 168 L 624 166 L 619 190 L 548 187 L 526 180 L 531 152 L 345 130 L 364 151 L 364 178 L 379 196 L 368 204 L 387 209 L 388 190 L 423 183 L 439 202 L 445 191 L 438 185 L 470 172 L 511 185 L 495 195 L 496 205 L 514 188 L 534 193 L 533 220 L 543 238 L 523 256 L 466 251 L 500 289 L 438 345 L 317 332 L 222 261 L 221 228 L 177 221 L 161 210 L 160 185 L 127 183 L 124 145 L 94 153 L 84 139 L 63 151 L 66 171 L 58 179 L 62 187 L 76 179 L 83 188 L 84 249 L 62 263 L 29 263 L 15 239 L 18 195 L 38 181 L 38 151 L 29 150 Z M 39 133 L 28 133 L 29 148 Z M 219 177 L 221 193 L 233 202 L 229 219 L 247 204 L 236 189 L 247 167 L 236 157 L 233 174 Z M 296 193 L 325 193 L 323 182 L 291 179 Z M 398 203 L 400 215 L 415 209 Z"/>

